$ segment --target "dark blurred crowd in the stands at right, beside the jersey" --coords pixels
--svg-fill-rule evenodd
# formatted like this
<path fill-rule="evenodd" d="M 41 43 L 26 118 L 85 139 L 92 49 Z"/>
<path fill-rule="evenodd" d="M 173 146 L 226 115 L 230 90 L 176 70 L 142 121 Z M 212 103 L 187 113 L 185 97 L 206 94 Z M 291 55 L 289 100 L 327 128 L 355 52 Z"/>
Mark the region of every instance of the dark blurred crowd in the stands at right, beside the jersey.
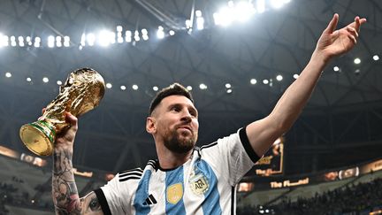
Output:
<path fill-rule="evenodd" d="M 347 185 L 311 198 L 298 198 L 294 202 L 283 197 L 276 205 L 238 208 L 237 214 L 353 215 L 379 210 L 382 210 L 382 179 Z"/>

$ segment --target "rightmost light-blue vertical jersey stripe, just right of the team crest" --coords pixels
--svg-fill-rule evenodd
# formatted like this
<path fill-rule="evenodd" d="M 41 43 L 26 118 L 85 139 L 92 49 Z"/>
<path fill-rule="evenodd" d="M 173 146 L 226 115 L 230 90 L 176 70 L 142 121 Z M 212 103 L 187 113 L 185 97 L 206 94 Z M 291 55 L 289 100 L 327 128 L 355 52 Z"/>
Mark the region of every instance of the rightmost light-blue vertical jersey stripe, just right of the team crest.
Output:
<path fill-rule="evenodd" d="M 218 178 L 207 162 L 201 159 L 198 169 L 208 179 L 209 189 L 204 193 L 202 203 L 203 214 L 222 214 L 220 207 L 220 195 L 218 193 Z M 195 173 L 197 174 L 197 173 Z"/>

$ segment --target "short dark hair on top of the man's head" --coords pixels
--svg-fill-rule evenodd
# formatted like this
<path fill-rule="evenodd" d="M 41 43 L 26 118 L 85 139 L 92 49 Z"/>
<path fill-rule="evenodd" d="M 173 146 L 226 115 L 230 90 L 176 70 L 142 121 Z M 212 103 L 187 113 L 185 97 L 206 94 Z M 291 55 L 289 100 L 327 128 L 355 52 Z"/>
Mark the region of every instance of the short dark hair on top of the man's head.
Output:
<path fill-rule="evenodd" d="M 183 87 L 180 83 L 173 83 L 167 88 L 163 88 L 161 91 L 157 93 L 157 96 L 153 98 L 149 107 L 149 115 L 154 111 L 158 104 L 167 96 L 186 96 L 192 103 L 194 103 L 194 99 L 191 93 L 187 90 L 187 88 Z"/>

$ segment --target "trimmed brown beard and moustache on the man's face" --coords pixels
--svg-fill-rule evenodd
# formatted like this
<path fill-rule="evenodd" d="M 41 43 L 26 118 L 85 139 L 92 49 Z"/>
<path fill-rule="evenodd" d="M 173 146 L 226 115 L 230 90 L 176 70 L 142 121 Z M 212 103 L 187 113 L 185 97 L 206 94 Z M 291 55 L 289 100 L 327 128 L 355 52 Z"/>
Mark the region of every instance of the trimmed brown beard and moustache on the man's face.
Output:
<path fill-rule="evenodd" d="M 184 154 L 194 149 L 197 134 L 191 133 L 190 136 L 185 136 L 174 129 L 167 137 L 164 139 L 164 146 L 172 152 Z"/>

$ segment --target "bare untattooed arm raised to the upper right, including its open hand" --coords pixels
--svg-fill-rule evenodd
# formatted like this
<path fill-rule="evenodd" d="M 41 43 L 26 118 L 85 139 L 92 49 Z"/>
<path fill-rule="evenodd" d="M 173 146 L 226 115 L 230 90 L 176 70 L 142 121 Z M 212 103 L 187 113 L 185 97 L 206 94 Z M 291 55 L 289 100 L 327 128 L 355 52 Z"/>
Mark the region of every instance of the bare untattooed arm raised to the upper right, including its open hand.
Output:
<path fill-rule="evenodd" d="M 334 14 L 320 36 L 308 65 L 300 77 L 287 88 L 271 114 L 248 125 L 248 140 L 258 156 L 263 156 L 271 144 L 292 127 L 307 104 L 325 65 L 333 57 L 344 54 L 355 46 L 360 27 L 366 22 L 366 19 L 355 17 L 355 21 L 347 27 L 335 30 L 338 20 L 339 15 Z"/>

